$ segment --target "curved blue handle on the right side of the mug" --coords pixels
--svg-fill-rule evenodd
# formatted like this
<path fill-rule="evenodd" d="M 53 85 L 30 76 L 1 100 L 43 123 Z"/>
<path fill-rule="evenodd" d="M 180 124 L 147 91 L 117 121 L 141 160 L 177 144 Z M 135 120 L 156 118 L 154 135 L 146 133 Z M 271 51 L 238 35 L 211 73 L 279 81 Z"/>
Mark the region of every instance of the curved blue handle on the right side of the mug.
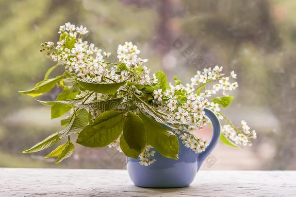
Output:
<path fill-rule="evenodd" d="M 214 147 L 216 146 L 219 138 L 220 138 L 220 122 L 217 118 L 217 116 L 214 114 L 214 112 L 210 109 L 205 108 L 204 111 L 206 112 L 206 116 L 210 119 L 213 125 L 213 136 L 211 139 L 211 142 L 206 147 L 206 150 L 197 154 L 198 162 L 197 162 L 197 168 L 199 170 L 202 162 L 208 157 L 208 155 L 213 151 Z"/>

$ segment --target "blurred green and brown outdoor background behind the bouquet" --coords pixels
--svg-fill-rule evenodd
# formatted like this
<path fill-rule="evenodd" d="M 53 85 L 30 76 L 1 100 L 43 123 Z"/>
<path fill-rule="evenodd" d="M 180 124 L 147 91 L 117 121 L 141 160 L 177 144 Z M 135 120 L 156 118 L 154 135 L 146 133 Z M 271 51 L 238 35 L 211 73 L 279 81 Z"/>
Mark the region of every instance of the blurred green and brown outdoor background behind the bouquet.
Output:
<path fill-rule="evenodd" d="M 246 120 L 258 139 L 240 150 L 219 143 L 203 169 L 295 170 L 295 10 L 295 0 L 0 0 L 0 167 L 124 168 L 119 153 L 79 144 L 58 165 L 43 159 L 49 150 L 21 153 L 59 129 L 49 107 L 17 90 L 33 87 L 54 65 L 40 43 L 57 41 L 69 21 L 114 54 L 132 41 L 151 71 L 177 74 L 183 83 L 204 67 L 236 71 L 239 88 L 225 113 L 235 124 Z"/>

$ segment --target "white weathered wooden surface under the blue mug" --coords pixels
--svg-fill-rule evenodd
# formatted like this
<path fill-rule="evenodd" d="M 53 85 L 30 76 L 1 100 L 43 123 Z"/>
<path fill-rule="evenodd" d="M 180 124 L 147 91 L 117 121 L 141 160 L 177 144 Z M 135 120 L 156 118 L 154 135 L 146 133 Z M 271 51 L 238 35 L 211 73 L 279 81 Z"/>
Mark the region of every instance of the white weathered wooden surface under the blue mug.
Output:
<path fill-rule="evenodd" d="M 190 187 L 149 189 L 126 170 L 0 168 L 0 196 L 296 197 L 296 171 L 200 171 Z"/>

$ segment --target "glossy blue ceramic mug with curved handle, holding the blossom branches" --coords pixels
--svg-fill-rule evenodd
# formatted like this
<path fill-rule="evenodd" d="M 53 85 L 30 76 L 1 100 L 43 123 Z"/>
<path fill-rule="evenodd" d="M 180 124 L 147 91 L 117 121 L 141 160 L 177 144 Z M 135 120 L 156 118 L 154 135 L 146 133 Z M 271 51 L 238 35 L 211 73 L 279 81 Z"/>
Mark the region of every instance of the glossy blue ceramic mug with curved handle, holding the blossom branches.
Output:
<path fill-rule="evenodd" d="M 194 180 L 202 162 L 212 152 L 220 137 L 220 123 L 216 115 L 205 109 L 206 116 L 213 125 L 213 137 L 206 150 L 194 153 L 182 144 L 179 139 L 179 160 L 168 159 L 159 154 L 154 154 L 156 161 L 144 166 L 139 159 L 127 159 L 127 169 L 132 182 L 136 186 L 150 188 L 186 187 Z"/>

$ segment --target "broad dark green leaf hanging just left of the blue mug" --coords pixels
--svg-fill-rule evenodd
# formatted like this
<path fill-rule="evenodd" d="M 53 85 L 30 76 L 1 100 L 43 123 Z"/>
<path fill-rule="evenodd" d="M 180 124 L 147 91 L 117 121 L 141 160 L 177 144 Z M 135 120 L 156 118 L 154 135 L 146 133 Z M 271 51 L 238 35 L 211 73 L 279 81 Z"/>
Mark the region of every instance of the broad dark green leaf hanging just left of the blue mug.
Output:
<path fill-rule="evenodd" d="M 103 147 L 115 141 L 122 132 L 124 111 L 105 111 L 93 125 L 88 125 L 78 135 L 76 143 L 87 147 Z"/>

